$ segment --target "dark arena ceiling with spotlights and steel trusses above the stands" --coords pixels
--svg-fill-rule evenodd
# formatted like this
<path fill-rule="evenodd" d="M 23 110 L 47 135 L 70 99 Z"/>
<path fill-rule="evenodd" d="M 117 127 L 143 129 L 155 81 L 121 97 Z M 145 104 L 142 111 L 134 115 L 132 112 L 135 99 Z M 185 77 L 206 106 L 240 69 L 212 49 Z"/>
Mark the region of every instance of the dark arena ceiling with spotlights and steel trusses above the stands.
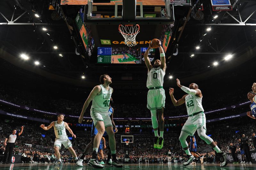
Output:
<path fill-rule="evenodd" d="M 0 57 L 2 61 L 6 60 L 16 67 L 49 79 L 75 85 L 95 85 L 94 82 L 98 81 L 99 75 L 103 73 L 110 74 L 113 80 L 120 84 L 131 82 L 138 83 L 138 85 L 141 82 L 145 84 L 147 68 L 143 61 L 142 64 L 97 64 L 99 41 L 95 42 L 91 57 L 76 55 L 75 43 L 79 40 L 74 41 L 77 35 L 70 33 L 67 23 L 72 25 L 77 12 L 83 6 L 62 6 L 67 17 L 67 22 L 65 22 L 58 12 L 48 9 L 49 2 L 1 0 Z M 236 70 L 241 63 L 255 57 L 256 2 L 254 0 L 230 0 L 233 10 L 219 12 L 212 11 L 209 0 L 202 2 L 204 11 L 198 12 L 195 17 L 187 18 L 188 22 L 185 22 L 185 18 L 189 7 L 175 6 L 174 8 L 175 23 L 172 36 L 175 41 L 166 52 L 169 59 L 166 60 L 168 68 L 165 79 L 169 79 L 169 76 L 186 81 L 207 78 L 226 70 Z M 154 6 L 148 6 L 145 10 L 150 11 L 153 8 Z M 108 8 L 98 6 L 98 12 L 108 13 Z M 40 17 L 37 18 L 35 13 L 38 13 Z M 218 15 L 218 18 L 213 18 L 215 15 Z M 185 26 L 184 23 L 186 23 Z M 184 30 L 180 34 L 182 26 Z M 107 27 L 95 27 L 92 36 L 95 37 L 98 33 L 98 39 L 100 39 L 99 36 L 108 33 Z M 42 30 L 43 28 L 47 31 Z M 207 28 L 211 30 L 207 31 Z M 178 31 L 175 32 L 175 29 Z M 150 31 L 155 34 L 161 33 L 159 26 L 153 26 L 148 32 L 141 32 L 141 36 L 147 39 Z M 123 38 L 118 32 L 113 37 L 117 41 L 122 41 Z M 171 55 L 177 52 L 176 44 L 178 44 L 178 54 Z M 54 49 L 54 45 L 58 46 L 58 49 Z M 138 47 L 143 46 L 145 45 L 138 44 Z M 196 49 L 196 46 L 200 48 Z M 20 58 L 22 53 L 29 56 L 28 61 Z M 227 55 L 232 55 L 233 58 L 226 61 L 224 58 Z M 40 65 L 35 66 L 35 61 L 39 61 Z M 218 66 L 214 66 L 214 62 L 218 62 Z M 85 76 L 84 81 L 81 81 L 82 75 Z M 122 80 L 124 77 L 132 78 L 132 81 Z M 169 81 L 169 83 L 172 82 Z"/>

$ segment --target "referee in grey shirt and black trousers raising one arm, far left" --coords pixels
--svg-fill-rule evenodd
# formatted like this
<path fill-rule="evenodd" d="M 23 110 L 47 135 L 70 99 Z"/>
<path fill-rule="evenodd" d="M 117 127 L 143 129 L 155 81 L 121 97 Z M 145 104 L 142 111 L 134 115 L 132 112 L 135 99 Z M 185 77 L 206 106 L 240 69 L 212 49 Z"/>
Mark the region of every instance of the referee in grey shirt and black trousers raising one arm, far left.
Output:
<path fill-rule="evenodd" d="M 19 133 L 19 136 L 22 134 L 23 132 L 23 126 L 20 127 L 21 128 L 21 131 Z M 17 135 L 16 135 L 16 132 L 17 130 L 16 129 L 13 129 L 12 130 L 12 134 L 8 136 L 6 136 L 5 140 L 4 140 L 4 146 L 5 147 L 5 152 L 4 152 L 4 161 L 3 161 L 3 164 L 8 164 L 9 161 L 11 160 L 11 157 L 12 157 L 12 151 L 13 151 L 13 148 L 14 148 L 14 143 L 15 143 L 15 140 L 17 138 Z M 7 138 L 8 137 L 8 138 Z M 6 145 L 6 142 L 8 140 L 8 143 Z M 8 158 L 6 160 L 6 158 Z"/>

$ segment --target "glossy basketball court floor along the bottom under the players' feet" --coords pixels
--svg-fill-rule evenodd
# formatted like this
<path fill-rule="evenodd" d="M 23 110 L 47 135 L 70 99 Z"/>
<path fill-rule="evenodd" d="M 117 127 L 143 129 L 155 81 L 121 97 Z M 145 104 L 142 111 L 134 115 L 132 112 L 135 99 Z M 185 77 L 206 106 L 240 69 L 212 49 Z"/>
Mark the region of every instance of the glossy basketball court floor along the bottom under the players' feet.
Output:
<path fill-rule="evenodd" d="M 0 164 L 1 170 L 82 170 L 96 169 L 84 164 L 84 167 L 78 167 L 76 164 L 63 164 L 54 166 L 53 164 Z M 116 168 L 106 165 L 104 169 L 125 169 L 125 170 L 156 170 L 156 169 L 180 169 L 180 170 L 251 170 L 256 169 L 254 164 L 228 164 L 226 167 L 220 167 L 219 164 L 198 164 L 196 166 L 183 166 L 182 164 L 123 164 L 123 168 Z"/>

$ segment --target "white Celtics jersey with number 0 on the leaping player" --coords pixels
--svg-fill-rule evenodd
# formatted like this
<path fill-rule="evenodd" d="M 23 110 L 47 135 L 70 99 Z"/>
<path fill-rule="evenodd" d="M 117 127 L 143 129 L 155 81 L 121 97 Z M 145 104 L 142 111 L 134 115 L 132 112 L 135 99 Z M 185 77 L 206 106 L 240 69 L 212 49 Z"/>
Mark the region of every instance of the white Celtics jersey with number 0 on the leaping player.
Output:
<path fill-rule="evenodd" d="M 164 84 L 165 72 L 160 67 L 152 68 L 148 72 L 147 87 L 159 87 Z"/>

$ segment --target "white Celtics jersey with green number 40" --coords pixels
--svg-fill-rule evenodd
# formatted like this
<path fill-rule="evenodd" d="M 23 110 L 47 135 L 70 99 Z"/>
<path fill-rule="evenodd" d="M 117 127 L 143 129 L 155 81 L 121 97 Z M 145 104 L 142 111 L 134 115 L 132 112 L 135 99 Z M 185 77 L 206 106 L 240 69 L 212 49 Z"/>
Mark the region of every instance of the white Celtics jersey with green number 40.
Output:
<path fill-rule="evenodd" d="M 109 110 L 109 102 L 113 89 L 109 87 L 106 90 L 103 85 L 100 85 L 101 91 L 97 94 L 94 99 L 92 99 L 92 107 L 93 109 L 99 111 L 100 113 L 108 113 Z"/>

